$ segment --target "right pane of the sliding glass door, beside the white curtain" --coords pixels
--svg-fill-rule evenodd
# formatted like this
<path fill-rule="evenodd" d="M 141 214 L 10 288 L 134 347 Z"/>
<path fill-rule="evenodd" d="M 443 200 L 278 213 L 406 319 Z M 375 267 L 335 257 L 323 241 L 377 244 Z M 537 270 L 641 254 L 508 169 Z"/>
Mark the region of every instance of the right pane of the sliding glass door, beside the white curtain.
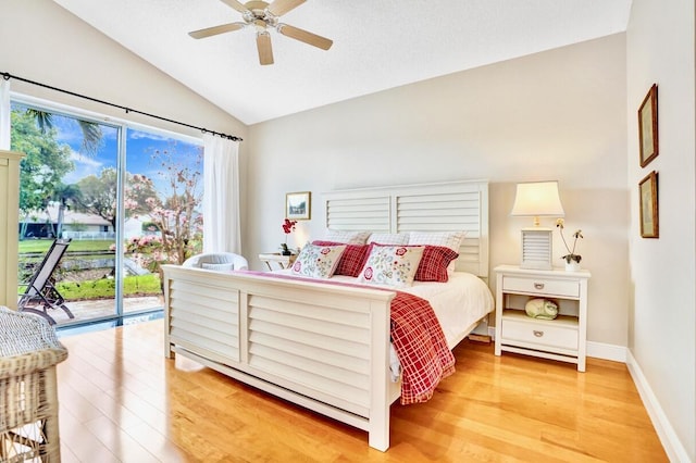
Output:
<path fill-rule="evenodd" d="M 123 268 L 126 313 L 161 308 L 161 270 L 202 248 L 202 146 L 127 129 Z"/>

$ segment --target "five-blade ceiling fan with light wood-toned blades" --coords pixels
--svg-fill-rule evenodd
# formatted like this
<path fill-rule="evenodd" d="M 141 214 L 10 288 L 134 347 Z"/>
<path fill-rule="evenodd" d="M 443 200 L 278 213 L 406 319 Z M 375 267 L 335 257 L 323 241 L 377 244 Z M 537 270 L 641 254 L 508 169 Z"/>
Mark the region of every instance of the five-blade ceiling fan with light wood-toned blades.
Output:
<path fill-rule="evenodd" d="M 248 1 L 245 4 L 241 4 L 237 0 L 221 1 L 241 13 L 244 23 L 237 22 L 207 27 L 204 29 L 190 32 L 188 33 L 189 36 L 195 39 L 201 39 L 217 34 L 232 33 L 248 26 L 253 27 L 257 32 L 259 62 L 263 65 L 273 64 L 273 48 L 271 47 L 269 29 L 275 29 L 278 34 L 321 48 L 322 50 L 328 50 L 334 43 L 333 40 L 325 37 L 278 22 L 279 16 L 296 9 L 307 0 L 274 0 L 271 3 L 264 1 Z"/>

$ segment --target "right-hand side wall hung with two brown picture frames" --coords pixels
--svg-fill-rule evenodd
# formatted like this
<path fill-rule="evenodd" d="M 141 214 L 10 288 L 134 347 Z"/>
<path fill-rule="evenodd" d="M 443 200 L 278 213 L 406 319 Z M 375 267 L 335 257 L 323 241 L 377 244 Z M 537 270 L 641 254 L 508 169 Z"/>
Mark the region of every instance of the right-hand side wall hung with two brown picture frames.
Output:
<path fill-rule="evenodd" d="M 630 349 L 672 461 L 696 461 L 694 2 L 633 0 L 627 43 Z M 636 111 L 658 84 L 659 155 L 638 164 Z M 659 174 L 659 239 L 642 239 L 638 182 Z M 635 374 L 634 374 L 635 375 Z M 650 411 L 650 406 L 648 410 Z M 679 441 L 678 441 L 679 440 Z"/>

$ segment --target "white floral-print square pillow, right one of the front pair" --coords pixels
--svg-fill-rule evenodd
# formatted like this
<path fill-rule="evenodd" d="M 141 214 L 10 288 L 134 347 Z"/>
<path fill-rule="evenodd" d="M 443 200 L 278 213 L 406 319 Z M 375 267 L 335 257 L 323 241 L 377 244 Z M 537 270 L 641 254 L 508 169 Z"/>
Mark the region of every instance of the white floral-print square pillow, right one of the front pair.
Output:
<path fill-rule="evenodd" d="M 368 285 L 384 285 L 395 288 L 411 286 L 424 250 L 424 246 L 372 245 L 372 250 L 358 280 Z"/>

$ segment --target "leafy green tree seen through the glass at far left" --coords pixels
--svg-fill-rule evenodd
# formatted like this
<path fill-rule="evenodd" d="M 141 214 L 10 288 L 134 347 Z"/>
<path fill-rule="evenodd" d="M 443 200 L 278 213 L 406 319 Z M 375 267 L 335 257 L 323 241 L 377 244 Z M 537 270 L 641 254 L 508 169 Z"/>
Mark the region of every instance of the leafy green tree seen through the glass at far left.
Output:
<path fill-rule="evenodd" d="M 74 165 L 70 147 L 60 146 L 55 140 L 55 129 L 41 133 L 35 117 L 25 111 L 12 111 L 11 117 L 12 149 L 26 154 L 20 163 L 20 211 L 23 215 L 20 236 L 24 238 L 26 217 L 46 210 L 55 196 L 55 186 Z"/>

